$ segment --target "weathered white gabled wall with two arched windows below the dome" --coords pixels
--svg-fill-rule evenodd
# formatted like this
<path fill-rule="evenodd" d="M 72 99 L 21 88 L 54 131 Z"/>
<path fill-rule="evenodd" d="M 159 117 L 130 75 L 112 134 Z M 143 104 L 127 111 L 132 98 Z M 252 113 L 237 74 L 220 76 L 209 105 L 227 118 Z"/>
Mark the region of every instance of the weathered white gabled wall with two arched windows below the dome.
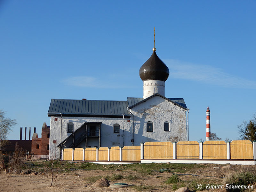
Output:
<path fill-rule="evenodd" d="M 134 145 L 145 141 L 170 141 L 177 137 L 187 140 L 186 110 L 155 96 L 131 109 L 134 115 Z M 153 132 L 147 132 L 147 122 L 153 122 Z M 164 122 L 169 130 L 164 131 Z"/>

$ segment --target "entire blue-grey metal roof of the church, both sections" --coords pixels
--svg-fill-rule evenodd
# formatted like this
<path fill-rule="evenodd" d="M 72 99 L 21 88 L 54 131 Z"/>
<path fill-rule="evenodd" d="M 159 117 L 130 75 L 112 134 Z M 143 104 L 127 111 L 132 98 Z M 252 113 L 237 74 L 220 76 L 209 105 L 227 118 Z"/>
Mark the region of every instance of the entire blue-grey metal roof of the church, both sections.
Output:
<path fill-rule="evenodd" d="M 164 99 L 170 100 L 174 104 L 187 109 L 183 98 L 166 98 L 158 93 L 146 98 L 145 100 L 161 96 Z M 127 101 L 105 101 L 105 100 L 67 100 L 67 99 L 52 99 L 48 110 L 48 116 L 88 116 L 88 117 L 113 117 L 113 118 L 130 118 L 127 107 L 143 102 L 141 97 L 128 97 Z"/>

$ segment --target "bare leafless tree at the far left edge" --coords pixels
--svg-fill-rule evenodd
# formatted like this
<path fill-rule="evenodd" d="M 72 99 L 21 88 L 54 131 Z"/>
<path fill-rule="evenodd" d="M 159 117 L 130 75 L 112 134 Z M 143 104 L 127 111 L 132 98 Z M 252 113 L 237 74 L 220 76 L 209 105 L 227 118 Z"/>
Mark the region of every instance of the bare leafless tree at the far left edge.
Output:
<path fill-rule="evenodd" d="M 5 112 L 0 109 L 0 139 L 6 140 L 12 127 L 17 124 L 16 119 L 4 117 Z"/>

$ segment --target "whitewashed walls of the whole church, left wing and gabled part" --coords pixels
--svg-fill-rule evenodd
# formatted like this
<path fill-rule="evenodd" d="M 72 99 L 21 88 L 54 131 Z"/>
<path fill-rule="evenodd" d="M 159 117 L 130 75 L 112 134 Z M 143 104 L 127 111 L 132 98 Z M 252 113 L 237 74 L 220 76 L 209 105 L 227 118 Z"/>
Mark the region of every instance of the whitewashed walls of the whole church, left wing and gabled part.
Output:
<path fill-rule="evenodd" d="M 170 141 L 174 137 L 178 137 L 180 140 L 187 139 L 186 110 L 160 96 L 152 97 L 146 102 L 133 107 L 131 112 L 134 115 L 134 145 L 140 145 L 141 142 L 144 143 L 146 141 Z M 55 118 L 58 120 L 55 121 Z M 123 142 L 124 146 L 130 146 L 132 145 L 132 116 L 130 122 L 127 120 L 127 118 L 123 120 L 123 118 L 62 116 L 61 126 L 61 117 L 52 116 L 50 128 L 50 158 L 60 157 L 60 148 L 57 148 L 57 145 L 70 135 L 70 133 L 67 133 L 68 123 L 73 123 L 74 131 L 76 131 L 76 129 L 85 122 L 101 122 L 101 147 L 122 147 Z M 153 132 L 147 132 L 148 121 L 153 122 Z M 164 122 L 166 121 L 169 122 L 170 131 L 164 131 Z M 114 124 L 120 125 L 120 133 L 114 133 Z M 60 127 L 62 127 L 62 131 L 60 131 Z M 60 132 L 62 133 L 60 134 Z M 56 143 L 53 143 L 53 140 L 56 140 Z M 92 144 L 87 143 L 87 146 L 89 145 L 94 147 L 94 145 L 96 145 L 95 141 L 93 141 Z M 79 145 L 79 147 L 82 146 Z"/>

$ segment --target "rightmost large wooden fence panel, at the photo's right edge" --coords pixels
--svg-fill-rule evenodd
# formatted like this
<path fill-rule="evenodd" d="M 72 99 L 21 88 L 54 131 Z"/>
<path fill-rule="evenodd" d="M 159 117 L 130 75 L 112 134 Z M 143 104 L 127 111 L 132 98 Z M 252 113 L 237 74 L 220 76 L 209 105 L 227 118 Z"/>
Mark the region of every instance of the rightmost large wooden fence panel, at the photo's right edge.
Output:
<path fill-rule="evenodd" d="M 253 146 L 250 140 L 233 140 L 230 143 L 230 159 L 253 159 Z"/>

